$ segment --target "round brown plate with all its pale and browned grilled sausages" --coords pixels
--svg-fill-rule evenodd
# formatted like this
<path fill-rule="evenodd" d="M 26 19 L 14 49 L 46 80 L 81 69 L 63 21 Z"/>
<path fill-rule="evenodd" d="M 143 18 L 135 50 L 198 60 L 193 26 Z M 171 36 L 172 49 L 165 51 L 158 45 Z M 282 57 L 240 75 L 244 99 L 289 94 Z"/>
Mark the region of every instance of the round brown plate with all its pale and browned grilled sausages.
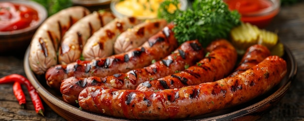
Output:
<path fill-rule="evenodd" d="M 173 27 L 70 7 L 37 29 L 24 69 L 46 104 L 72 121 L 254 120 L 297 73 L 286 46 L 282 57 L 262 45 L 240 57 L 225 39 L 178 45 Z"/>

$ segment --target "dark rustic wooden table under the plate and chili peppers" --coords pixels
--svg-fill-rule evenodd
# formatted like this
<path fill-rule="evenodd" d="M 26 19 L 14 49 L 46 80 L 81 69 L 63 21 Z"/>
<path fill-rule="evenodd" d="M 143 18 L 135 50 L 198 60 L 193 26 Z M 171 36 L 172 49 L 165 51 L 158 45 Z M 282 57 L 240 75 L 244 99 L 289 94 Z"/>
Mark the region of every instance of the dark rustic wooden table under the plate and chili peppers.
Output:
<path fill-rule="evenodd" d="M 287 45 L 298 63 L 298 74 L 283 99 L 260 121 L 304 120 L 304 2 L 283 6 L 267 30 L 278 32 L 280 41 Z M 25 76 L 24 50 L 0 53 L 0 77 L 11 73 Z M 0 121 L 65 121 L 46 104 L 45 116 L 37 115 L 29 94 L 25 91 L 27 109 L 21 109 L 13 94 L 13 84 L 0 85 Z M 22 86 L 26 90 L 25 86 Z"/>

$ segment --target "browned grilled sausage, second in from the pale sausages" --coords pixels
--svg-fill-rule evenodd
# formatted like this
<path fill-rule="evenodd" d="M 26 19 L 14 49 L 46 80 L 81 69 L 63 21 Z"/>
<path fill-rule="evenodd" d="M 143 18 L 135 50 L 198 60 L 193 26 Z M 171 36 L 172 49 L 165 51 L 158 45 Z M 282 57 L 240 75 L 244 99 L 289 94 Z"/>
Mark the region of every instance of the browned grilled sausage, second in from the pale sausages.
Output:
<path fill-rule="evenodd" d="M 61 83 L 60 91 L 63 100 L 68 104 L 76 104 L 79 93 L 87 86 L 107 86 L 117 89 L 135 89 L 144 81 L 158 79 L 175 71 L 184 70 L 203 59 L 204 51 L 198 40 L 187 41 L 166 58 L 148 67 L 133 69 L 126 73 L 117 73 L 106 77 L 69 77 Z"/>

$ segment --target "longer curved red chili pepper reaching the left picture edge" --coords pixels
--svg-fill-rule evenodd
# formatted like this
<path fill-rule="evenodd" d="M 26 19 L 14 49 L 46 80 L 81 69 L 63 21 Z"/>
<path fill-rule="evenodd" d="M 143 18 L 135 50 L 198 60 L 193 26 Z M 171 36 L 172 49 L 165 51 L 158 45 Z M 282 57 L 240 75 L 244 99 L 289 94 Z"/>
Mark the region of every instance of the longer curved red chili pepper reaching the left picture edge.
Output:
<path fill-rule="evenodd" d="M 4 76 L 4 77 L 0 78 L 0 84 L 12 83 L 12 82 L 19 82 L 20 84 L 25 85 L 27 87 L 27 89 L 30 93 L 32 102 L 34 104 L 36 113 L 44 116 L 44 114 L 43 114 L 43 112 L 44 112 L 43 104 L 42 104 L 41 99 L 38 95 L 38 92 L 36 91 L 34 86 L 32 86 L 30 81 L 27 78 L 25 78 L 24 76 L 19 75 L 19 74 L 10 74 L 10 75 L 7 75 L 7 76 Z"/>

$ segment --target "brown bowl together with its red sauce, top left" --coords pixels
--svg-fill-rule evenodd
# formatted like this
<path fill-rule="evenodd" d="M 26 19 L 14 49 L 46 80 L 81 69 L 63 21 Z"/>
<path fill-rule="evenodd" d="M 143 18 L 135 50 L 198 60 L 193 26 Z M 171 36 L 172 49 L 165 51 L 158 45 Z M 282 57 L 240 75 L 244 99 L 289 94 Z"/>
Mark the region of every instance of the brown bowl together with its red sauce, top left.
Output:
<path fill-rule="evenodd" d="M 0 53 L 25 50 L 47 17 L 47 10 L 34 1 L 0 1 Z"/>

